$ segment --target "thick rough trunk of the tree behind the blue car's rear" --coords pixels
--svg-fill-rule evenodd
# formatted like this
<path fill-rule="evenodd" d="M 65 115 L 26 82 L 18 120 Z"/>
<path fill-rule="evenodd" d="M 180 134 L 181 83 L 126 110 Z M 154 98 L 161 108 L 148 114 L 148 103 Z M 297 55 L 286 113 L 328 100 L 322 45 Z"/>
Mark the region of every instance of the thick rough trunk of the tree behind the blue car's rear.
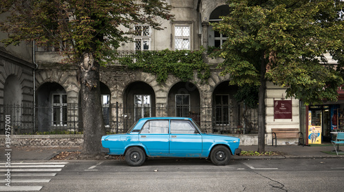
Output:
<path fill-rule="evenodd" d="M 101 137 L 105 135 L 103 111 L 100 99 L 100 65 L 94 61 L 92 53 L 83 54 L 78 66 L 80 83 L 80 106 L 83 119 L 83 154 L 100 153 Z"/>

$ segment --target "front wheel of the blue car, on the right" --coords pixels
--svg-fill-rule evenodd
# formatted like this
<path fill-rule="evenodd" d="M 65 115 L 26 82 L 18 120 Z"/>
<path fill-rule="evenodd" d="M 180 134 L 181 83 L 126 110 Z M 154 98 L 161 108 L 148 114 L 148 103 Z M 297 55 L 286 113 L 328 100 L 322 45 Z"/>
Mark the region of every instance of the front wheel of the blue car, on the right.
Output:
<path fill-rule="evenodd" d="M 222 145 L 216 146 L 211 150 L 211 162 L 215 165 L 226 165 L 230 161 L 230 151 Z"/>

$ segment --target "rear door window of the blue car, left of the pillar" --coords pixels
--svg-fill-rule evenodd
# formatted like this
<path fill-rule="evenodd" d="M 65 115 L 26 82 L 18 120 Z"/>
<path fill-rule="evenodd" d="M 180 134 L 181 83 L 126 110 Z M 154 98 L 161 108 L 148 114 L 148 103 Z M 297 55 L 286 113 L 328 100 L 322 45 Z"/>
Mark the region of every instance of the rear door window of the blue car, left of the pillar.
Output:
<path fill-rule="evenodd" d="M 149 120 L 144 123 L 140 134 L 168 134 L 169 120 Z"/>

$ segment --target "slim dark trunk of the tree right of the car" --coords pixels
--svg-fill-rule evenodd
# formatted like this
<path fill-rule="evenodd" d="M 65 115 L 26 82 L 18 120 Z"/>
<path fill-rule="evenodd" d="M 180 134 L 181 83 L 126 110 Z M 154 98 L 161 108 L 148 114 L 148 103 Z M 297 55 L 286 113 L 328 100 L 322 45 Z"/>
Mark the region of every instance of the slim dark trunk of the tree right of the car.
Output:
<path fill-rule="evenodd" d="M 266 63 L 264 57 L 261 58 L 261 77 L 260 77 L 260 87 L 259 87 L 259 105 L 258 105 L 258 152 L 265 151 L 265 95 L 266 95 Z"/>

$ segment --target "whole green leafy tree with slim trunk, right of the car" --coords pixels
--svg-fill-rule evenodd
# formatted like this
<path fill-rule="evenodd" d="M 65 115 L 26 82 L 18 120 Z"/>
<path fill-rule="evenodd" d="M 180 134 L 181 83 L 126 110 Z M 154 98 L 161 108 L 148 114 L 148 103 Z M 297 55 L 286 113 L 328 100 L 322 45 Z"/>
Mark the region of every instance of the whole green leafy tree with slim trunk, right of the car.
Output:
<path fill-rule="evenodd" d="M 337 100 L 343 78 L 325 58 L 343 58 L 341 0 L 232 0 L 230 14 L 213 23 L 228 39 L 222 74 L 231 85 L 259 87 L 259 149 L 264 151 L 266 81 L 305 103 Z M 343 60 L 341 60 L 343 61 Z M 341 62 L 340 61 L 340 62 Z"/>

